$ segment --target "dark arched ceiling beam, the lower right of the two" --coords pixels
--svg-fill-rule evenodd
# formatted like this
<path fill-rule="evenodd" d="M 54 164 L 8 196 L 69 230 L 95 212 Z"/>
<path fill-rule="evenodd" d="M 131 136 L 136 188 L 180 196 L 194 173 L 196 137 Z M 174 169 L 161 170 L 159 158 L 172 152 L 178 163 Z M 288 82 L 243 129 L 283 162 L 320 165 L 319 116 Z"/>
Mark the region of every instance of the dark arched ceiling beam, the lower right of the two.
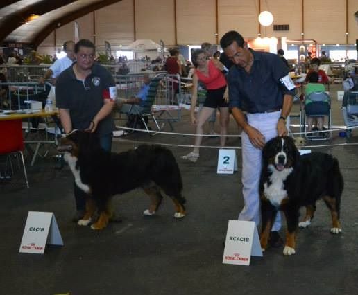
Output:
<path fill-rule="evenodd" d="M 97 3 L 93 3 L 88 6 L 84 6 L 78 10 L 75 10 L 74 12 L 69 13 L 68 15 L 65 15 L 64 17 L 60 17 L 56 20 L 54 20 L 51 24 L 47 25 L 46 28 L 41 30 L 35 37 L 33 37 L 32 42 L 30 42 L 31 46 L 33 48 L 37 48 L 41 44 L 44 39 L 51 34 L 53 30 L 56 28 L 60 28 L 61 26 L 65 26 L 65 24 L 68 24 L 71 21 L 74 21 L 80 17 L 83 17 L 84 15 L 87 15 L 89 12 L 93 12 L 94 10 L 99 10 L 105 6 L 109 6 L 113 3 L 117 3 L 121 0 L 103 0 L 99 1 Z"/>

